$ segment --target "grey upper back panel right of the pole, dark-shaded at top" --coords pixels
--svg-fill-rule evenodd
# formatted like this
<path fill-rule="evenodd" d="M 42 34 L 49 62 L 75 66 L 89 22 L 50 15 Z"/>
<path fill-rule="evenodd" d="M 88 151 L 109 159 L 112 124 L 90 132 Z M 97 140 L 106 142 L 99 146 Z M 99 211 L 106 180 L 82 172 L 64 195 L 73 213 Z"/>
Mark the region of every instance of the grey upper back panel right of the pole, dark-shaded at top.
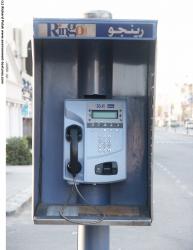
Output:
<path fill-rule="evenodd" d="M 113 42 L 113 95 L 146 96 L 148 42 Z"/>

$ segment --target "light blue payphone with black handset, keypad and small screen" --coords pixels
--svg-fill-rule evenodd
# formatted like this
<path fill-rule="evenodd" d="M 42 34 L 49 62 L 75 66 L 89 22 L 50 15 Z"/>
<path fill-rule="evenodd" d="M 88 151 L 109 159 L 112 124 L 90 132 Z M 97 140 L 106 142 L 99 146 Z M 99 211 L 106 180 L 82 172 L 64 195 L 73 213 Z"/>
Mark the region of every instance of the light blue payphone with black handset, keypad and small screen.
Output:
<path fill-rule="evenodd" d="M 126 179 L 126 101 L 64 101 L 64 179 L 110 183 Z"/>

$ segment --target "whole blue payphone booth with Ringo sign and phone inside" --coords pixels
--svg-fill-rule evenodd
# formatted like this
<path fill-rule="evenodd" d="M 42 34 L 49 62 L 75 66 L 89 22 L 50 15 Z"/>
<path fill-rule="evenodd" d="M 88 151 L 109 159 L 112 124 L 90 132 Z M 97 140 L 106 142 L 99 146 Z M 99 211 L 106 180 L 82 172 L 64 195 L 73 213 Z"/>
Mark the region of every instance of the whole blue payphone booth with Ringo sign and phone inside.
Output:
<path fill-rule="evenodd" d="M 34 19 L 35 223 L 151 224 L 156 27 Z"/>

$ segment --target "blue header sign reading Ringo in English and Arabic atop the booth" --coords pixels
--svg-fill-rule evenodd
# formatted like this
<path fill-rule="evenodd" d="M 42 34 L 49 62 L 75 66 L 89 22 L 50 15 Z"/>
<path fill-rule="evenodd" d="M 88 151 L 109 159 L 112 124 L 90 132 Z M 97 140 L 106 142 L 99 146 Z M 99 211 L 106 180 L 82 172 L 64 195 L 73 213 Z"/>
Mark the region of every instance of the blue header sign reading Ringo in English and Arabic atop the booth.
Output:
<path fill-rule="evenodd" d="M 34 19 L 34 39 L 156 40 L 157 21 Z"/>

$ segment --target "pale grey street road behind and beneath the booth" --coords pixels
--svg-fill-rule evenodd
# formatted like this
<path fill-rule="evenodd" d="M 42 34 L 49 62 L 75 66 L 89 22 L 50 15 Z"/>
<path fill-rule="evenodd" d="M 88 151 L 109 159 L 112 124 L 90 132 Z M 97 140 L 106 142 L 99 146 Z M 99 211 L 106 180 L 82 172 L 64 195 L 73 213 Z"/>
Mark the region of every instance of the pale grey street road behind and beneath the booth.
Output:
<path fill-rule="evenodd" d="M 111 227 L 111 250 L 193 250 L 193 136 L 160 129 L 154 148 L 153 225 Z M 7 218 L 7 250 L 75 250 L 76 241 L 75 226 L 33 225 L 30 204 Z"/>

